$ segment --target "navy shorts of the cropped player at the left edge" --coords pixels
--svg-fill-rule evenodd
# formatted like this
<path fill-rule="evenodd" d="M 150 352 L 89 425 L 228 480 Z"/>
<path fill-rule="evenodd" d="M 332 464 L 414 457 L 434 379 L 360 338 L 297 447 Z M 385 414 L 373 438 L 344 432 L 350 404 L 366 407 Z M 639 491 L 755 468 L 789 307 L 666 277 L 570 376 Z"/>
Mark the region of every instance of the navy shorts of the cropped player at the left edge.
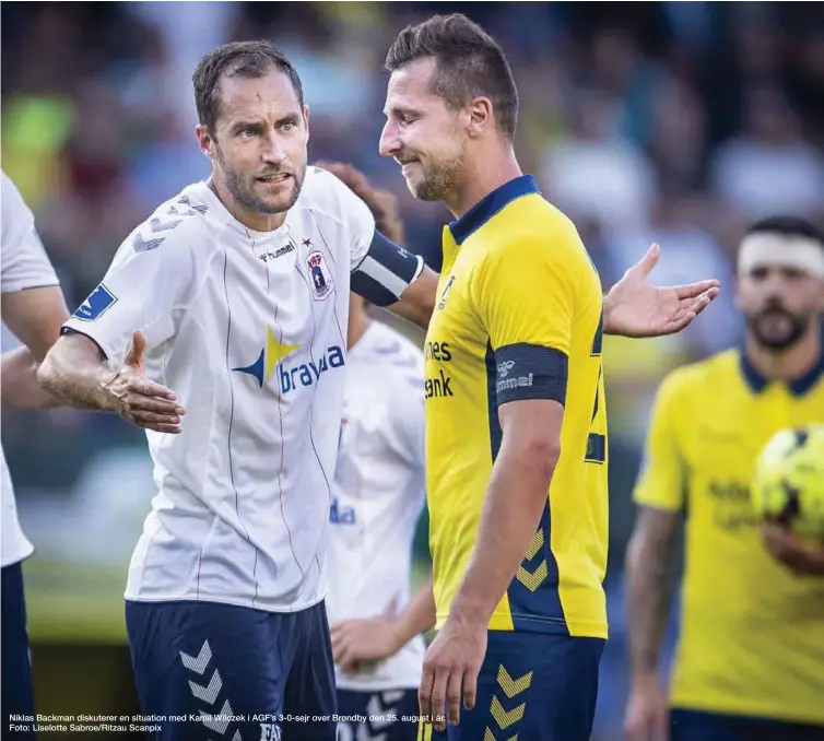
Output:
<path fill-rule="evenodd" d="M 34 724 L 10 721 L 11 715 L 34 716 L 32 657 L 26 628 L 26 603 L 23 596 L 21 564 L 2 569 L 2 738 L 34 739 Z M 12 728 L 13 726 L 13 728 Z"/>

